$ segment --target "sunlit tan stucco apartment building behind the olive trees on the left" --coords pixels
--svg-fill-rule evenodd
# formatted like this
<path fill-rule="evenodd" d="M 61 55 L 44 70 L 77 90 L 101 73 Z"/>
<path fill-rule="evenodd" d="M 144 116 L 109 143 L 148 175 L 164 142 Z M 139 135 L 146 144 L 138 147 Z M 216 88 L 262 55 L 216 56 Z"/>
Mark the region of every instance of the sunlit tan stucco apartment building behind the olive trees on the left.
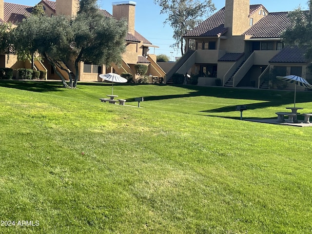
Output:
<path fill-rule="evenodd" d="M 44 12 L 47 16 L 53 17 L 54 15 L 65 15 L 68 17 L 75 17 L 78 12 L 79 0 L 41 0 L 39 4 L 42 5 Z M 144 38 L 135 30 L 135 11 L 136 2 L 134 1 L 119 1 L 113 2 L 113 15 L 106 10 L 101 12 L 106 17 L 114 17 L 117 20 L 125 18 L 128 20 L 128 34 L 125 38 L 126 52 L 122 56 L 122 62 L 120 65 L 112 64 L 112 67 L 105 67 L 102 64 L 88 64 L 81 62 L 79 64 L 79 75 L 81 81 L 100 81 L 98 74 L 116 72 L 118 74 L 130 73 L 136 77 L 135 64 L 141 63 L 148 66 L 147 75 L 153 77 L 164 77 L 165 72 L 156 63 L 156 55 L 150 54 L 149 50 L 153 45 L 149 40 Z M 30 15 L 32 6 L 14 4 L 3 2 L 0 0 L 0 20 L 2 22 L 11 22 L 17 24 L 25 16 Z M 68 69 L 75 71 L 74 64 L 70 61 L 64 61 L 68 66 Z M 0 67 L 17 68 L 30 68 L 28 61 L 17 61 L 16 56 L 10 55 L 9 59 L 7 55 L 0 56 Z M 35 67 L 38 70 L 47 71 L 47 79 L 59 79 L 52 66 L 47 62 L 35 62 Z M 59 71 L 64 74 L 63 71 Z M 75 74 L 74 74 L 75 75 Z"/>

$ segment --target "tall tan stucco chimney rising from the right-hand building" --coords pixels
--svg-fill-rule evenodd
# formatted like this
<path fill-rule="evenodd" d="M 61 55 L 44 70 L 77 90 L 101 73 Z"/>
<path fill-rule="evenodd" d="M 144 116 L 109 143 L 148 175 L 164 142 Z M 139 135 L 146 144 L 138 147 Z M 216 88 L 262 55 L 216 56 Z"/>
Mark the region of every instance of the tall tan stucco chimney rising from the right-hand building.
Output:
<path fill-rule="evenodd" d="M 232 36 L 242 35 L 250 28 L 250 1 L 226 0 L 224 27 L 229 28 Z"/>

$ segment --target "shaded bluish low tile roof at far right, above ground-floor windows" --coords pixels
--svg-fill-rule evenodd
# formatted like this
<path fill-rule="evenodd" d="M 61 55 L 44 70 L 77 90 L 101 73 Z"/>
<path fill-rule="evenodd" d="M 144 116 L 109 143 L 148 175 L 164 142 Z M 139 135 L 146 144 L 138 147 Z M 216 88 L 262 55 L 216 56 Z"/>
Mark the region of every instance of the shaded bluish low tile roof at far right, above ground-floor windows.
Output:
<path fill-rule="evenodd" d="M 307 63 L 305 58 L 306 47 L 298 48 L 284 47 L 278 54 L 276 54 L 269 63 Z"/>

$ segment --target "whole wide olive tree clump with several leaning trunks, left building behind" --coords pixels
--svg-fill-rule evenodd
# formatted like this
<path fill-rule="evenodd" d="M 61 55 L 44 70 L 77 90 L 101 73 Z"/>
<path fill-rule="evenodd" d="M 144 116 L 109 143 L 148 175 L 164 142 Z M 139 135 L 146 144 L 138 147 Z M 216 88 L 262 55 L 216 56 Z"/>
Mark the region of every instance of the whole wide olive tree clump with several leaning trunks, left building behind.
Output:
<path fill-rule="evenodd" d="M 52 64 L 64 86 L 67 86 L 65 78 L 57 68 L 67 72 L 71 87 L 77 86 L 80 61 L 105 65 L 119 63 L 127 33 L 125 21 L 104 17 L 96 0 L 80 0 L 79 3 L 78 14 L 73 19 L 32 15 L 13 33 L 18 53 L 39 53 Z M 74 80 L 65 64 L 68 61 L 75 63 Z"/>

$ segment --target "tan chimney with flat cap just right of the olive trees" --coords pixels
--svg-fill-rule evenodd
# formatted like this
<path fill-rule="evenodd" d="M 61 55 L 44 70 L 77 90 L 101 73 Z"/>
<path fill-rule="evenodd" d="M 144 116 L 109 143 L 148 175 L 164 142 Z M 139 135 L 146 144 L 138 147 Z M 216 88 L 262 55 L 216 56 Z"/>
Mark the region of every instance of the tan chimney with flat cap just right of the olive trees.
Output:
<path fill-rule="evenodd" d="M 116 20 L 122 18 L 128 20 L 128 33 L 135 35 L 135 17 L 136 5 L 135 1 L 118 1 L 113 2 L 113 17 Z"/>

